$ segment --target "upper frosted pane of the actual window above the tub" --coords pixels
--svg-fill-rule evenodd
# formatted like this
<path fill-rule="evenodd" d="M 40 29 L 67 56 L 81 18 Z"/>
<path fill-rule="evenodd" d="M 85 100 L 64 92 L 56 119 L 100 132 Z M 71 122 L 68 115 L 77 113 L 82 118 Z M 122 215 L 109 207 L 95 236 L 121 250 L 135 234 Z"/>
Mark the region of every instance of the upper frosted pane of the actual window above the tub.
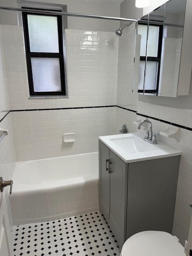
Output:
<path fill-rule="evenodd" d="M 27 15 L 31 52 L 59 52 L 57 17 Z"/>

